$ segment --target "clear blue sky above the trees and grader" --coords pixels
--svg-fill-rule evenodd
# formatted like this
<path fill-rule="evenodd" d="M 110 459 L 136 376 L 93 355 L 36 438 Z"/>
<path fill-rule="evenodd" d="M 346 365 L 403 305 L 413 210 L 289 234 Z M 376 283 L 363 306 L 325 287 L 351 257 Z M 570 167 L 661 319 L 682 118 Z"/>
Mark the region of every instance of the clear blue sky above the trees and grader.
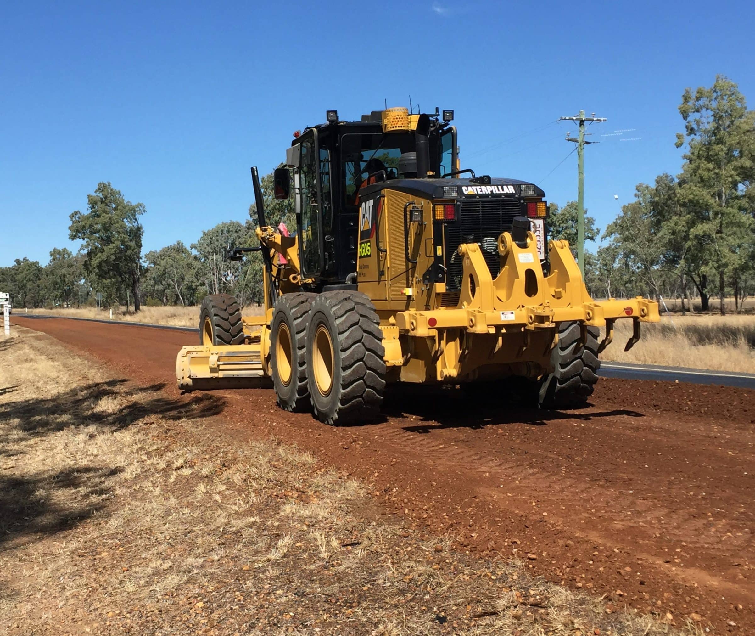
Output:
<path fill-rule="evenodd" d="M 66 2 L 0 9 L 0 266 L 42 264 L 99 181 L 143 202 L 144 252 L 247 218 L 249 166 L 291 132 L 383 107 L 455 110 L 461 163 L 576 198 L 556 123 L 607 117 L 585 202 L 606 227 L 641 181 L 676 174 L 686 86 L 716 73 L 750 106 L 751 2 Z M 601 137 L 602 134 L 622 134 Z M 552 174 L 550 171 L 556 168 Z M 547 176 L 548 175 L 548 176 Z M 614 195 L 618 195 L 618 200 Z"/>

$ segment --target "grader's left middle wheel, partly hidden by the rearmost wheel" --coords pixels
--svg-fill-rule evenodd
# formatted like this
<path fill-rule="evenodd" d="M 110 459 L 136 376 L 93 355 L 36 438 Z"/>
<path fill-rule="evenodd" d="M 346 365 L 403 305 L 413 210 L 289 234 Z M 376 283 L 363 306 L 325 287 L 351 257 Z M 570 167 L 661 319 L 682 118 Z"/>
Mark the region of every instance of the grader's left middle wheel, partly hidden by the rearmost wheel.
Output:
<path fill-rule="evenodd" d="M 291 412 L 310 410 L 307 387 L 307 325 L 314 294 L 294 292 L 276 301 L 270 326 L 270 373 L 278 405 Z"/>

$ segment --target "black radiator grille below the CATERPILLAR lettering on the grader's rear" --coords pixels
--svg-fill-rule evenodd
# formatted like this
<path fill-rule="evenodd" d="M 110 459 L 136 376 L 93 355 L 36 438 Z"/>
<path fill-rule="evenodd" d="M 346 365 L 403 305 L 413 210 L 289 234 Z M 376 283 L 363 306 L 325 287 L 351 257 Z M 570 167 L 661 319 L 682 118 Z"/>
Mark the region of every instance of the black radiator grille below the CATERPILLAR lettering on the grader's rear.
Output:
<path fill-rule="evenodd" d="M 513 219 L 523 215 L 522 202 L 517 199 L 468 199 L 459 206 L 459 218 L 445 224 L 446 289 L 461 289 L 462 258 L 456 252 L 461 243 L 477 243 L 495 278 L 501 267 L 498 258 L 498 236 L 510 230 Z"/>

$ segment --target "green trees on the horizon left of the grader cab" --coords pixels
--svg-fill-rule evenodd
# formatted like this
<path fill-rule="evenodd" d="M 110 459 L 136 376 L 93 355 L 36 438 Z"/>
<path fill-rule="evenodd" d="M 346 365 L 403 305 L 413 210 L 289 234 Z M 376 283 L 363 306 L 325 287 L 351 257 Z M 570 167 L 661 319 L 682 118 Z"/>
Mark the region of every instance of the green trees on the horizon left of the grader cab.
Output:
<path fill-rule="evenodd" d="M 271 219 L 294 227 L 293 202 L 273 199 L 273 173 L 262 179 Z M 70 215 L 69 239 L 82 247 L 53 249 L 50 261 L 17 258 L 0 267 L 0 290 L 14 307 L 195 305 L 208 294 L 230 293 L 242 304 L 262 301 L 262 260 L 258 253 L 228 261 L 229 246 L 257 244 L 257 212 L 249 206 L 244 223 L 227 221 L 202 232 L 191 245 L 177 241 L 142 255 L 142 203 L 131 203 L 110 183 L 100 183 L 87 199 L 86 211 Z M 252 221 L 254 218 L 254 221 Z M 101 300 L 97 300 L 101 294 Z"/>

